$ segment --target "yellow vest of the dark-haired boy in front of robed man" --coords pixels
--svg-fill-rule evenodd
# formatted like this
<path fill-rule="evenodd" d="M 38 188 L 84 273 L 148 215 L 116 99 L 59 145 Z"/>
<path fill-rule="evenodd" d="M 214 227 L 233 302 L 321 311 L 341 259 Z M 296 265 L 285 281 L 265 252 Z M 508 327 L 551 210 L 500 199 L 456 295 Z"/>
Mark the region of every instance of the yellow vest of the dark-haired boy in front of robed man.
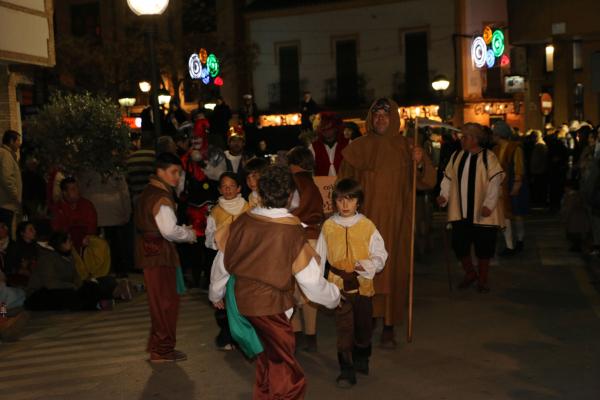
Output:
<path fill-rule="evenodd" d="M 332 219 L 325 221 L 322 233 L 327 244 L 329 264 L 346 272 L 354 272 L 354 265 L 358 260 L 369 258 L 369 244 L 375 230 L 375 224 L 365 217 L 348 228 L 336 224 Z M 340 290 L 344 288 L 342 278 L 331 271 L 327 280 Z M 375 294 L 372 279 L 359 275 L 358 283 L 358 293 L 361 296 L 371 297 Z"/>

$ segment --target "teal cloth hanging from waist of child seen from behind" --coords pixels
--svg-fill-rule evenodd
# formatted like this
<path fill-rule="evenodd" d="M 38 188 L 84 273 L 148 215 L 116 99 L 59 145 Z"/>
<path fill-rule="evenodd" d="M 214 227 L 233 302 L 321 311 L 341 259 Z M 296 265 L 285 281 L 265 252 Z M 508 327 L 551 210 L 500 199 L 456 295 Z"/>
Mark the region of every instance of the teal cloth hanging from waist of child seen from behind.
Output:
<path fill-rule="evenodd" d="M 242 315 L 235 301 L 235 276 L 227 281 L 225 291 L 225 309 L 231 336 L 248 358 L 254 358 L 263 352 L 263 346 L 252 324 Z"/>

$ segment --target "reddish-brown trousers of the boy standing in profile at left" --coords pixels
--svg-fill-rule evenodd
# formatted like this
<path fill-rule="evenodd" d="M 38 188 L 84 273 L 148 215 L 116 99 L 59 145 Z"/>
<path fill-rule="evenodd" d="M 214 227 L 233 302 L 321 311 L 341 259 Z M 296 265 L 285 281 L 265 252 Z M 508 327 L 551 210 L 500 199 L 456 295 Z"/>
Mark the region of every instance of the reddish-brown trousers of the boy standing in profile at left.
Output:
<path fill-rule="evenodd" d="M 169 356 L 175 350 L 179 295 L 175 268 L 153 267 L 144 269 L 144 281 L 150 308 L 150 355 Z"/>

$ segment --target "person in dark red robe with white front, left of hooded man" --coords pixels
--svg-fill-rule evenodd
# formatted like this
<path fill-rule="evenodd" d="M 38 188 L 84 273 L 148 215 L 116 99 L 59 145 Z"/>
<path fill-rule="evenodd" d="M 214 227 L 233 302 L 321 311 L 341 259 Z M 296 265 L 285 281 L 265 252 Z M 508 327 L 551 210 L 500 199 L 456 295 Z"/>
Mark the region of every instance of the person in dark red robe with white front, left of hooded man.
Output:
<path fill-rule="evenodd" d="M 315 155 L 315 175 L 335 176 L 342 163 L 342 151 L 348 145 L 344 137 L 344 125 L 332 112 L 319 114 L 318 138 L 312 143 L 311 151 Z"/>

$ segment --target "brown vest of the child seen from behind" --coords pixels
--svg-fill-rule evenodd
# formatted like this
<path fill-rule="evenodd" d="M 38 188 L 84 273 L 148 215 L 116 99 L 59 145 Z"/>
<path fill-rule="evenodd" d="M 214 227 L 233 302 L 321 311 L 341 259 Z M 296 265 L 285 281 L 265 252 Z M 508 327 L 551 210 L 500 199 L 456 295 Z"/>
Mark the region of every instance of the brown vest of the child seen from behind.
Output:
<path fill-rule="evenodd" d="M 308 243 L 299 220 L 275 221 L 245 213 L 229 227 L 224 264 L 236 277 L 242 315 L 277 315 L 294 306 L 293 266 Z"/>

